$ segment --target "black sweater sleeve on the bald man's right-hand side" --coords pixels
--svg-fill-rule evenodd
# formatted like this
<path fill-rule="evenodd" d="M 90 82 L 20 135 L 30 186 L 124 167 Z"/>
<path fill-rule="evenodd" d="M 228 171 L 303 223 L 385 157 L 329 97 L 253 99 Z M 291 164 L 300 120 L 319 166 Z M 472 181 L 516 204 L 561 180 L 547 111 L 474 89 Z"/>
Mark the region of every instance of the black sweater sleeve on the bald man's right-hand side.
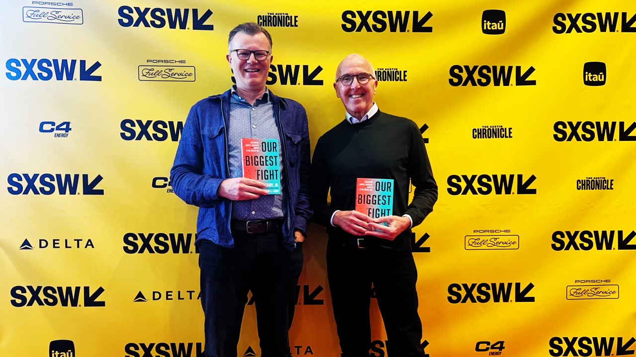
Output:
<path fill-rule="evenodd" d="M 415 227 L 432 212 L 438 197 L 438 187 L 433 178 L 431 162 L 426 154 L 422 134 L 413 121 L 410 122 L 409 136 L 408 175 L 415 189 L 413 189 L 413 201 L 404 214 L 411 216 L 413 227 Z"/>

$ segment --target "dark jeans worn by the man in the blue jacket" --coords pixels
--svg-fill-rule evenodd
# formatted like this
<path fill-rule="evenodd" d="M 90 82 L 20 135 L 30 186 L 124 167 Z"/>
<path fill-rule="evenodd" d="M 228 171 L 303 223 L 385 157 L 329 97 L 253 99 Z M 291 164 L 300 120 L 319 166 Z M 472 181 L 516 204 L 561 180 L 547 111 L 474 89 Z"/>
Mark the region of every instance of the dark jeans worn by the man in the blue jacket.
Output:
<path fill-rule="evenodd" d="M 303 269 L 303 247 L 293 252 L 279 234 L 232 232 L 235 248 L 200 244 L 201 305 L 205 314 L 205 356 L 236 357 L 240 325 L 252 291 L 261 356 L 290 356 L 289 327 L 295 289 Z"/>

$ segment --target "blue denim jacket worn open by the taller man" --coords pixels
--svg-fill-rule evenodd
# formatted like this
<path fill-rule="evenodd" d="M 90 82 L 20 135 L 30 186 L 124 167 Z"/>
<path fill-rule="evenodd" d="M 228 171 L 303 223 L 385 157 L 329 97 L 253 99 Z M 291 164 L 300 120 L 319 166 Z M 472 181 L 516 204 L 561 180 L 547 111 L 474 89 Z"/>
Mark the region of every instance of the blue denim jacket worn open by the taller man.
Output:
<path fill-rule="evenodd" d="M 274 119 L 282 138 L 286 175 L 283 245 L 294 249 L 294 228 L 307 231 L 312 218 L 309 206 L 310 145 L 307 113 L 294 100 L 271 93 Z M 234 248 L 230 231 L 232 200 L 219 197 L 221 181 L 230 177 L 227 126 L 230 120 L 230 91 L 197 102 L 183 127 L 174 165 L 170 170 L 172 189 L 189 205 L 199 207 L 198 239 Z M 204 232 L 205 231 L 205 232 Z M 204 234 L 202 234 L 204 232 Z"/>

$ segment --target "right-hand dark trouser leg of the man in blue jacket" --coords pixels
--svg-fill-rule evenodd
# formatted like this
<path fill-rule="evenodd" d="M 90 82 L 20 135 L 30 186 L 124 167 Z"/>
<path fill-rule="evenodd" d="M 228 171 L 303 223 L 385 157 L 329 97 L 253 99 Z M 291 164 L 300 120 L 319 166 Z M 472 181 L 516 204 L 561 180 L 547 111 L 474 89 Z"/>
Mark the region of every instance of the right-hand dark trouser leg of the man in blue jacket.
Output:
<path fill-rule="evenodd" d="M 258 235 L 256 280 L 252 285 L 262 357 L 290 356 L 289 327 L 295 291 L 303 269 L 303 247 L 293 252 L 276 233 Z M 291 316 L 290 316 L 291 314 Z"/>

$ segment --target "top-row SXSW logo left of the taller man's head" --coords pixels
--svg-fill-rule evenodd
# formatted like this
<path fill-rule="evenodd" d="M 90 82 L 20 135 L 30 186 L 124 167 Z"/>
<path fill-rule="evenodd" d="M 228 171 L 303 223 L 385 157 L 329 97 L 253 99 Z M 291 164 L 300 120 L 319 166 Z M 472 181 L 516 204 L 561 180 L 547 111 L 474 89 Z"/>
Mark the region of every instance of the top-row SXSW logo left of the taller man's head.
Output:
<path fill-rule="evenodd" d="M 201 17 L 199 17 L 198 9 L 192 10 L 192 29 L 193 30 L 214 30 L 214 25 L 205 24 L 205 22 L 212 16 L 212 10 L 206 10 Z M 120 18 L 117 20 L 120 26 L 123 27 L 154 27 L 155 29 L 162 29 L 167 24 L 170 29 L 190 30 L 188 27 L 188 18 L 190 18 L 190 9 L 165 9 L 162 8 L 144 8 L 143 10 L 137 6 L 131 8 L 130 6 L 120 6 L 118 10 Z M 135 19 L 136 17 L 136 19 Z M 147 17 L 150 17 L 148 19 Z M 167 20 L 167 21 L 166 21 Z"/>

